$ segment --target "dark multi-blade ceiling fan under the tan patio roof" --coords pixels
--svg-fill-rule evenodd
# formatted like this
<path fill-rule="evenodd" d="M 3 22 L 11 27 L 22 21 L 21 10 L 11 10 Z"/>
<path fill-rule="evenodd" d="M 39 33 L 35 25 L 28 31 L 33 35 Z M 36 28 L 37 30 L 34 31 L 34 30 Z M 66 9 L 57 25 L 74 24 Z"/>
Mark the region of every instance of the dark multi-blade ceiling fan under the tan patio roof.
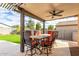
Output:
<path fill-rule="evenodd" d="M 63 16 L 61 13 L 63 13 L 64 10 L 52 8 L 52 6 L 51 6 L 51 9 L 53 9 L 53 10 L 48 11 L 50 13 L 50 15 L 47 17 L 52 16 L 52 18 L 53 18 L 54 16 Z"/>

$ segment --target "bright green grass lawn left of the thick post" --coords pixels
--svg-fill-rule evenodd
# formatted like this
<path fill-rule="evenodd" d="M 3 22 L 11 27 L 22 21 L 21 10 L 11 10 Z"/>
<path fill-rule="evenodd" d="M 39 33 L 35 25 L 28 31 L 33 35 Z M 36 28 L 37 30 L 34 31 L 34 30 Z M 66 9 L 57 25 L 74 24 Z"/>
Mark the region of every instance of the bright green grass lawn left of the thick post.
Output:
<path fill-rule="evenodd" d="M 0 35 L 0 40 L 6 40 L 13 43 L 20 43 L 20 35 L 16 34 Z"/>

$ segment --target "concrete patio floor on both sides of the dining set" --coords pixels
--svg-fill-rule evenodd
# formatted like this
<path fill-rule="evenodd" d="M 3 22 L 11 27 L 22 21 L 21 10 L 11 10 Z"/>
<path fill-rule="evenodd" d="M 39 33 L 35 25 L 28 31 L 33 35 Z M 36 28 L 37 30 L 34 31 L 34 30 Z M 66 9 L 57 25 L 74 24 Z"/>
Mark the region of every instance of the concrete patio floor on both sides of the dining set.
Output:
<path fill-rule="evenodd" d="M 0 56 L 24 56 L 24 55 L 25 53 L 20 53 L 19 44 L 11 43 L 8 41 L 0 41 Z M 71 56 L 68 41 L 56 40 L 52 48 L 52 54 L 50 54 L 50 56 Z"/>

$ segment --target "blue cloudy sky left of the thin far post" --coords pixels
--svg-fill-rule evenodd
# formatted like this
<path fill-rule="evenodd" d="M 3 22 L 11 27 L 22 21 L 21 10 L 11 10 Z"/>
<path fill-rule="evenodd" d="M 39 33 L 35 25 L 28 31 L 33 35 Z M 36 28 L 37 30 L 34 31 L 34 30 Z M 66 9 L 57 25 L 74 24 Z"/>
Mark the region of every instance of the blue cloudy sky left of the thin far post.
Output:
<path fill-rule="evenodd" d="M 33 18 L 31 18 L 31 19 L 35 23 L 40 22 Z M 29 17 L 26 16 L 25 21 L 27 22 L 28 20 L 29 20 Z M 10 26 L 19 25 L 20 24 L 20 14 L 15 11 L 4 9 L 4 8 L 0 7 L 0 23 L 4 23 L 4 24 L 10 25 Z"/>

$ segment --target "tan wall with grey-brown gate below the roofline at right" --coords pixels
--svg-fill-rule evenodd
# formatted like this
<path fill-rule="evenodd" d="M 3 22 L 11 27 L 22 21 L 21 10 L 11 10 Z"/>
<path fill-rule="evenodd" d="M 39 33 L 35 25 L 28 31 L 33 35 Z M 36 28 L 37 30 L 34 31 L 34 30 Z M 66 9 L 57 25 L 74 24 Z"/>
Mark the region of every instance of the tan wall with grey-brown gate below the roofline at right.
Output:
<path fill-rule="evenodd" d="M 59 31 L 58 38 L 62 40 L 74 40 L 77 41 L 77 26 L 59 26 L 56 27 Z"/>

